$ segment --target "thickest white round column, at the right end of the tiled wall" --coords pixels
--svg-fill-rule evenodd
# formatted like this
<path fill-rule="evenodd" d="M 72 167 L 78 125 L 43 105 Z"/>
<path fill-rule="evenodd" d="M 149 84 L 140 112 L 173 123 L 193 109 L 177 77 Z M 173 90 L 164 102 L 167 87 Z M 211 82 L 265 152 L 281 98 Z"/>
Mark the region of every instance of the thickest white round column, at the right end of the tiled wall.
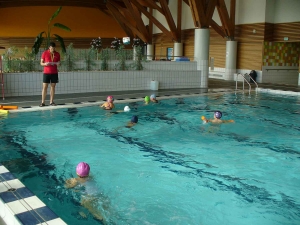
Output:
<path fill-rule="evenodd" d="M 208 87 L 209 74 L 209 29 L 195 29 L 194 61 L 200 70 L 200 88 Z"/>

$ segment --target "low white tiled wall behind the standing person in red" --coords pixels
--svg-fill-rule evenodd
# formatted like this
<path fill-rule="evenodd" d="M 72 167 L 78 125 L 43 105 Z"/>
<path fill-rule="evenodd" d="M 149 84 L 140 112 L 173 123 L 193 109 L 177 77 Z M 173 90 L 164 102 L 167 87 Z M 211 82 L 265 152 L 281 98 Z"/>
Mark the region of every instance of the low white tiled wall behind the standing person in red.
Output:
<path fill-rule="evenodd" d="M 157 80 L 160 89 L 199 88 L 200 74 L 197 70 L 60 72 L 56 94 L 149 90 L 151 80 Z M 4 74 L 5 96 L 41 95 L 42 77 L 42 73 Z"/>

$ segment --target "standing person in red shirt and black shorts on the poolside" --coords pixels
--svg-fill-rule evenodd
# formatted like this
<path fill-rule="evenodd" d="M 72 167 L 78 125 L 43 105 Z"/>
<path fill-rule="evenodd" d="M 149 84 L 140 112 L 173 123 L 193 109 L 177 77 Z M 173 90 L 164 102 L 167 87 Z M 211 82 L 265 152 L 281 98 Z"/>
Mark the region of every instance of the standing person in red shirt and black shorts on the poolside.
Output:
<path fill-rule="evenodd" d="M 42 90 L 42 103 L 40 107 L 45 106 L 45 98 L 47 95 L 48 85 L 51 84 L 50 89 L 50 105 L 56 106 L 54 103 L 55 86 L 58 83 L 58 70 L 57 66 L 60 64 L 60 54 L 55 51 L 55 43 L 49 43 L 49 49 L 44 51 L 41 58 L 41 66 L 44 67 L 43 74 L 43 90 Z"/>

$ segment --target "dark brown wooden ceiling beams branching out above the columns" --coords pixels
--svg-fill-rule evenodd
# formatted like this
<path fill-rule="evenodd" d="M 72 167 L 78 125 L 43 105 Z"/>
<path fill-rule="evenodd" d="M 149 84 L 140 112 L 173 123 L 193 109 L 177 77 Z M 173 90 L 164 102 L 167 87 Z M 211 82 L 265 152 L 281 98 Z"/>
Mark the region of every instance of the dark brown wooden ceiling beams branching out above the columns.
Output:
<path fill-rule="evenodd" d="M 187 4 L 196 28 L 214 29 L 223 38 L 234 39 L 235 1 L 230 0 L 228 13 L 225 0 L 178 0 L 177 21 L 169 9 L 169 0 L 0 0 L 0 8 L 23 6 L 76 6 L 97 8 L 114 17 L 129 37 L 138 37 L 145 43 L 152 43 L 153 25 L 174 42 L 181 42 L 182 5 Z M 217 9 L 222 25 L 213 19 Z M 161 13 L 167 22 L 164 26 L 153 15 L 153 10 Z M 145 24 L 142 14 L 149 19 Z"/>

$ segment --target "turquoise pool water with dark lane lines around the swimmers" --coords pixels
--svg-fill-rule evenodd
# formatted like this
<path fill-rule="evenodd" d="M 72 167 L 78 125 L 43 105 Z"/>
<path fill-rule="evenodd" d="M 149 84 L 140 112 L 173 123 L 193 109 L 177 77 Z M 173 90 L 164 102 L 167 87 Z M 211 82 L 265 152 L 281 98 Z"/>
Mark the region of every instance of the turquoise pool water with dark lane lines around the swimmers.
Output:
<path fill-rule="evenodd" d="M 126 104 L 117 104 L 117 110 Z M 11 113 L 0 120 L 0 162 L 68 224 L 102 224 L 66 189 L 91 166 L 106 224 L 300 223 L 300 99 L 224 93 Z M 235 123 L 200 117 L 223 112 Z M 125 128 L 132 115 L 139 123 Z"/>

